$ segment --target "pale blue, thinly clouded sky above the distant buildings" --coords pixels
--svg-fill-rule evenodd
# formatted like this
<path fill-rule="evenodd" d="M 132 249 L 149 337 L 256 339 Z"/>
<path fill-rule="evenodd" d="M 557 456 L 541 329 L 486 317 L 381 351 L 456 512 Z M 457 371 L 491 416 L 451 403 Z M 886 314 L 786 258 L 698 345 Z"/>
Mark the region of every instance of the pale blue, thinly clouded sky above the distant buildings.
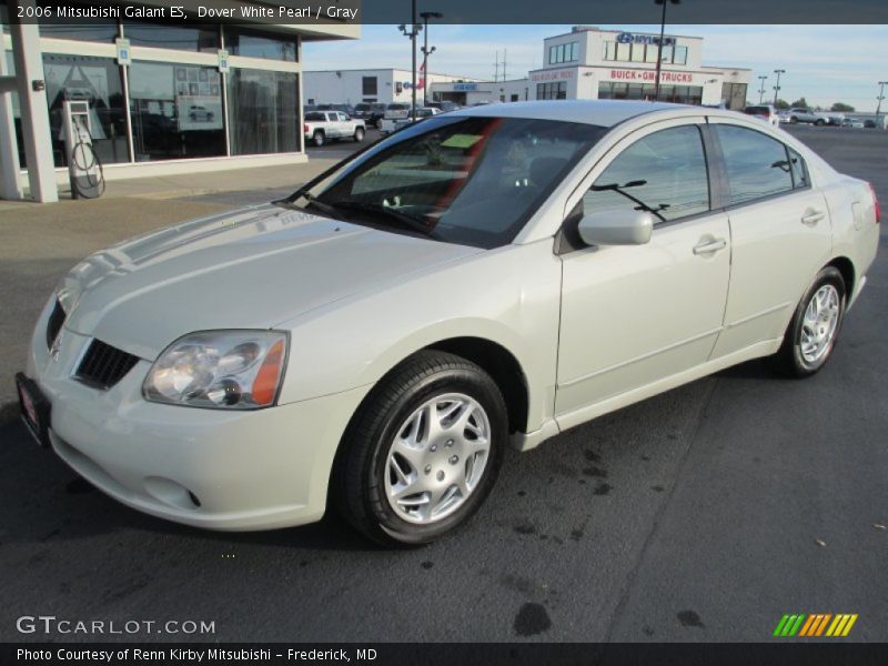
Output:
<path fill-rule="evenodd" d="M 659 26 L 599 28 L 659 31 Z M 433 24 L 428 43 L 437 50 L 428 70 L 492 80 L 496 53 L 502 61 L 505 51 L 507 77 L 519 79 L 542 67 L 544 38 L 569 31 L 571 26 Z M 780 74 L 781 99 L 793 102 L 804 95 L 825 108 L 840 101 L 875 111 L 878 82 L 888 81 L 888 26 L 667 26 L 666 33 L 703 37 L 705 65 L 751 69 L 747 97 L 754 102 L 758 75 L 768 75 L 765 100 L 774 99 L 775 69 L 786 70 Z M 410 40 L 396 26 L 363 26 L 355 42 L 306 42 L 303 53 L 307 70 L 411 67 Z"/>

